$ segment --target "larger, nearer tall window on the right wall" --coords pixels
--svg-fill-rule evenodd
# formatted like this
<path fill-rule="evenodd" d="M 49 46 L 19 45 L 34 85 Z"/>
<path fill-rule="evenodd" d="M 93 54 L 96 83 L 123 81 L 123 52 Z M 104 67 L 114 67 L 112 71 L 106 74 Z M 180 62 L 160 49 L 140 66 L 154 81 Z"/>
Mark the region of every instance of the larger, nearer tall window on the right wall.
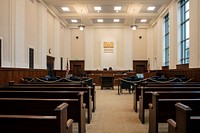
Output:
<path fill-rule="evenodd" d="M 190 56 L 190 27 L 189 0 L 180 1 L 180 53 L 181 64 L 189 63 Z"/>

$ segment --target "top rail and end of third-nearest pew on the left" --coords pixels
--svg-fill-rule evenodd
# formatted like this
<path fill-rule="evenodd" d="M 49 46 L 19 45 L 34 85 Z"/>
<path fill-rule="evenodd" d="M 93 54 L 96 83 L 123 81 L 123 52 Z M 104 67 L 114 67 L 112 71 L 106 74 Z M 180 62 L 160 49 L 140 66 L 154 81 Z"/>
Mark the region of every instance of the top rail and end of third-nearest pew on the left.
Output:
<path fill-rule="evenodd" d="M 57 87 L 57 86 L 4 86 L 0 90 L 18 90 L 18 91 L 77 91 L 84 92 L 83 102 L 86 103 L 88 123 L 92 119 L 92 96 L 91 87 Z"/>

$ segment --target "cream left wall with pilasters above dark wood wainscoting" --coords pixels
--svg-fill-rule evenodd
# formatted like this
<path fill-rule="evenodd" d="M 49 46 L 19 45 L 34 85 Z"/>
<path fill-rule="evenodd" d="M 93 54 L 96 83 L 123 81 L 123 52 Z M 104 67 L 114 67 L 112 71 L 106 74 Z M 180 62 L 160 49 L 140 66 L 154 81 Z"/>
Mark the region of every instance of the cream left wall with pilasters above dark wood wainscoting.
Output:
<path fill-rule="evenodd" d="M 36 69 L 46 69 L 47 55 L 55 57 L 55 69 L 60 69 L 60 57 L 64 59 L 63 64 L 66 63 L 65 59 L 66 56 L 69 57 L 69 52 L 65 51 L 70 51 L 67 49 L 69 38 L 66 35 L 69 34 L 44 3 L 2 0 L 0 7 L 2 67 L 28 68 L 29 48 L 34 49 Z M 49 49 L 51 54 L 48 52 Z"/>

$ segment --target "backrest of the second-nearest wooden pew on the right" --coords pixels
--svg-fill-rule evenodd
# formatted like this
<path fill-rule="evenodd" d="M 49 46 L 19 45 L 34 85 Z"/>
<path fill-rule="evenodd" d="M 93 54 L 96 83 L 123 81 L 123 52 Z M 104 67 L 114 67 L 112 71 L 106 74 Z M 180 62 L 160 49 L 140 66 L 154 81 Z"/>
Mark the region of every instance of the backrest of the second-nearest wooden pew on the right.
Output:
<path fill-rule="evenodd" d="M 177 102 L 191 105 L 194 107 L 194 111 L 198 113 L 200 106 L 198 104 L 192 104 L 194 101 L 200 103 L 200 91 L 166 91 L 152 93 L 154 115 L 162 116 L 159 117 L 159 121 L 161 122 L 166 122 L 170 117 L 175 118 L 174 105 Z"/>

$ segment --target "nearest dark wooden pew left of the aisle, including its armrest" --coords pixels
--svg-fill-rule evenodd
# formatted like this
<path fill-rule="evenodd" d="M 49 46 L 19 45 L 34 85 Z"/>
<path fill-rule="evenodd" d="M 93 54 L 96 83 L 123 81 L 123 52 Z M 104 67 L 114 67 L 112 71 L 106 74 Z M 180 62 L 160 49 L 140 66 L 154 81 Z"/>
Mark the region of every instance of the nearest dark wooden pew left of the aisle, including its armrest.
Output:
<path fill-rule="evenodd" d="M 72 133 L 73 120 L 67 120 L 66 103 L 58 104 L 53 110 L 39 108 L 37 109 L 39 114 L 36 114 L 31 110 L 33 109 L 31 104 L 22 104 L 24 101 L 20 99 L 21 104 L 16 106 L 15 100 L 9 98 L 0 100 L 1 133 Z"/>

